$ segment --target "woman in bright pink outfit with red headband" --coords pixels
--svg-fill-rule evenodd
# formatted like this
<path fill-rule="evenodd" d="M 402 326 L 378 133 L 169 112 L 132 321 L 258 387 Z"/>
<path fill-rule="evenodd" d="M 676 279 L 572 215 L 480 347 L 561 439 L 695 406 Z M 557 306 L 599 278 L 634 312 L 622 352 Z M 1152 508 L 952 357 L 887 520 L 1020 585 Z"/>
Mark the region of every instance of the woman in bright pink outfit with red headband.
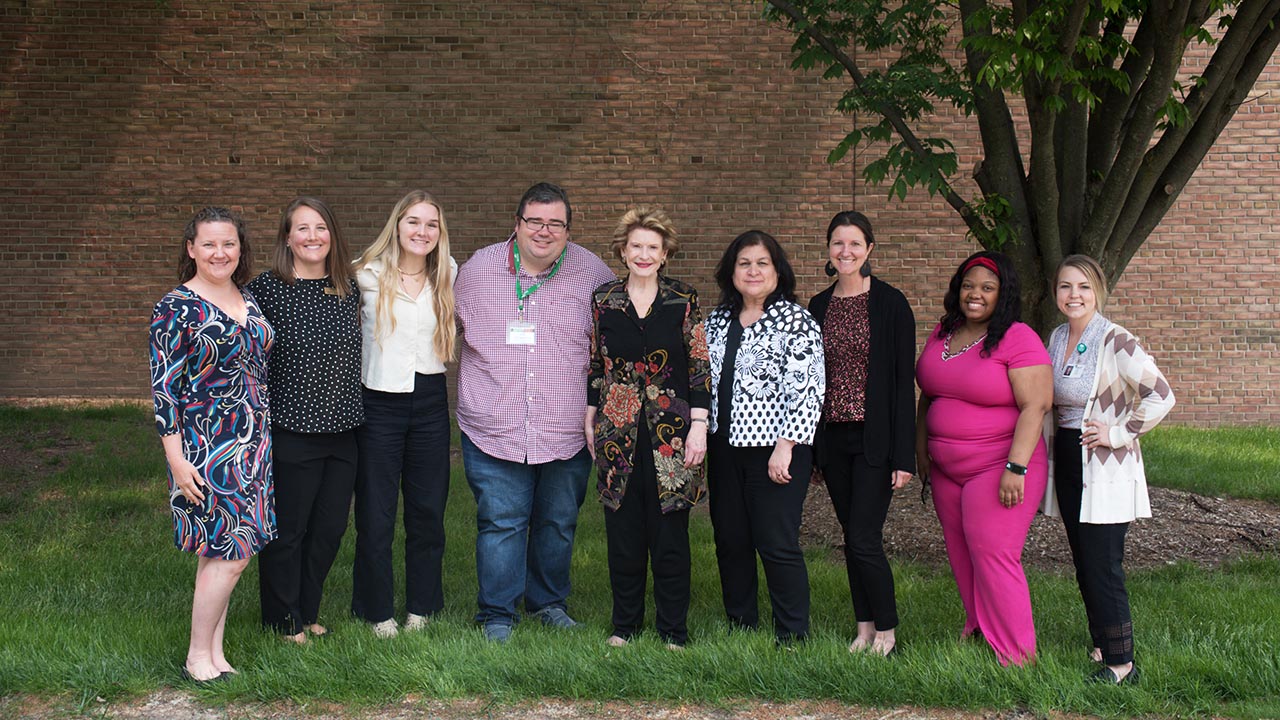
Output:
<path fill-rule="evenodd" d="M 1018 322 L 1018 275 L 1005 255 L 961 263 L 943 307 L 915 368 L 916 465 L 933 484 L 964 603 L 961 637 L 984 638 L 1001 665 L 1021 665 L 1036 655 L 1023 544 L 1048 474 L 1050 356 Z"/>

